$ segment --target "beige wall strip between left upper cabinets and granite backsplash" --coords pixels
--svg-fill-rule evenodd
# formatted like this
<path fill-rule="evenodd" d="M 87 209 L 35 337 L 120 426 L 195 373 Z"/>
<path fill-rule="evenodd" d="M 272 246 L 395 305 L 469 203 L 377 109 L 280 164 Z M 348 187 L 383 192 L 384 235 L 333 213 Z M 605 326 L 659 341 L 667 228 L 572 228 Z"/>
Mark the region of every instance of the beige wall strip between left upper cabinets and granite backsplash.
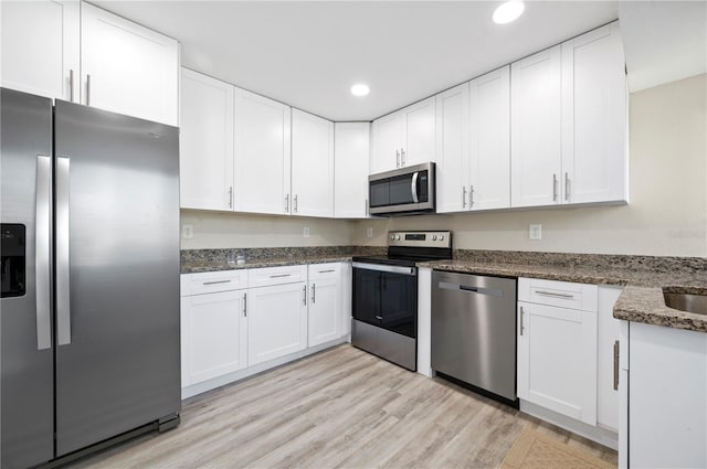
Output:
<path fill-rule="evenodd" d="M 347 246 L 351 226 L 340 220 L 268 216 L 228 212 L 181 211 L 181 225 L 192 225 L 194 237 L 181 239 L 182 249 L 229 247 Z M 309 237 L 304 237 L 304 227 Z"/>

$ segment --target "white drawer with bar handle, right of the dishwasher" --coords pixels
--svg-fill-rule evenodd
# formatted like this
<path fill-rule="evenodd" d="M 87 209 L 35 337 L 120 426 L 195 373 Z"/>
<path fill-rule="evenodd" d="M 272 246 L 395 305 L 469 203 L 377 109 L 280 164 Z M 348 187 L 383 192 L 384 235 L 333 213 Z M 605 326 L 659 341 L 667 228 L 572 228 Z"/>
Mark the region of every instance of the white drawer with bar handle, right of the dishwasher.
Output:
<path fill-rule="evenodd" d="M 595 285 L 518 279 L 518 301 L 595 312 L 598 300 L 599 289 Z"/>

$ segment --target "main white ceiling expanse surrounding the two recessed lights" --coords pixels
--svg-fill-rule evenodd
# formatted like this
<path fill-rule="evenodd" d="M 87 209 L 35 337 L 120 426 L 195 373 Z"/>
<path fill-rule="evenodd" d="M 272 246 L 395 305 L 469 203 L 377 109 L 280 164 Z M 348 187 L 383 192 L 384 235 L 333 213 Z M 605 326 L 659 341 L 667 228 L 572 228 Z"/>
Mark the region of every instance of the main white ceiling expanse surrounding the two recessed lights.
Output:
<path fill-rule="evenodd" d="M 616 1 L 94 1 L 172 36 L 182 65 L 331 120 L 371 120 L 618 18 Z M 356 82 L 371 93 L 350 95 Z"/>

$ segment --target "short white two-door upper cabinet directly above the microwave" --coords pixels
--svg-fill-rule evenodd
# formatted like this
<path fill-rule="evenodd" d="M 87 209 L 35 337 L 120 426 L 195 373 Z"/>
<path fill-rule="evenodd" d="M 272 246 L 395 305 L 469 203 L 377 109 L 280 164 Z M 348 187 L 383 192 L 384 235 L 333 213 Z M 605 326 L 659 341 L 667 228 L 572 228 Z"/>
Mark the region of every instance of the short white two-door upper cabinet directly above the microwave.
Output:
<path fill-rule="evenodd" d="M 371 174 L 435 161 L 435 103 L 433 96 L 373 121 Z"/>

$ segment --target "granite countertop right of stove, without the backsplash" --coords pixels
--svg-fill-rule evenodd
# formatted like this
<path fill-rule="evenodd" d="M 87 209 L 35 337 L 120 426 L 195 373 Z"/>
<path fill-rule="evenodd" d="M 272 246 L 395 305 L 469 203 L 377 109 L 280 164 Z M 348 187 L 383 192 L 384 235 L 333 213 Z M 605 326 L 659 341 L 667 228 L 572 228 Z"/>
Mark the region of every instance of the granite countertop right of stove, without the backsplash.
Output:
<path fill-rule="evenodd" d="M 661 259 L 661 258 L 654 258 Z M 679 258 L 677 258 L 679 259 Z M 659 262 L 659 260 L 658 260 Z M 614 306 L 614 318 L 668 328 L 707 332 L 707 316 L 668 308 L 663 287 L 671 291 L 707 295 L 707 269 L 675 266 L 676 258 L 666 258 L 666 266 L 614 265 L 542 265 L 508 262 L 439 260 L 420 263 L 420 267 L 481 275 L 530 277 L 580 284 L 618 285 L 623 291 Z"/>

